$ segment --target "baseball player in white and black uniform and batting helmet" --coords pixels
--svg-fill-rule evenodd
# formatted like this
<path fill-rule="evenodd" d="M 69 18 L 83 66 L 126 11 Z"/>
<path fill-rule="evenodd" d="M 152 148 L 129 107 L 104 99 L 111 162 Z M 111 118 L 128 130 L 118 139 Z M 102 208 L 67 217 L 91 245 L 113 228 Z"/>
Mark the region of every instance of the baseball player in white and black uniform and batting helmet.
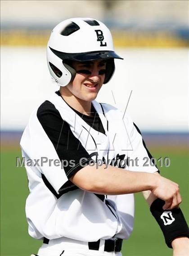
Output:
<path fill-rule="evenodd" d="M 21 139 L 29 234 L 43 239 L 38 256 L 121 256 L 135 192 L 144 193 L 167 246 L 188 255 L 178 184 L 144 166 L 152 156 L 130 117 L 95 101 L 114 59 L 122 58 L 110 31 L 92 18 L 67 19 L 49 38 L 47 64 L 60 89 L 33 111 Z"/>

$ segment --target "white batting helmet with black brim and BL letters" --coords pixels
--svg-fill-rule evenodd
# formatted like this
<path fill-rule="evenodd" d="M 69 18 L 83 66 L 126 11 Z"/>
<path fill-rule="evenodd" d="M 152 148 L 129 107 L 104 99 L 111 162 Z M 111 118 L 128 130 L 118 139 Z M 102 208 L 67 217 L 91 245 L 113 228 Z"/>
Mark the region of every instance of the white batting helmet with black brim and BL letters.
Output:
<path fill-rule="evenodd" d="M 60 86 L 66 86 L 76 75 L 69 60 L 97 59 L 107 59 L 104 79 L 107 83 L 115 70 L 114 59 L 122 58 L 114 52 L 111 32 L 102 22 L 70 18 L 54 27 L 47 45 L 47 64 L 51 77 Z"/>

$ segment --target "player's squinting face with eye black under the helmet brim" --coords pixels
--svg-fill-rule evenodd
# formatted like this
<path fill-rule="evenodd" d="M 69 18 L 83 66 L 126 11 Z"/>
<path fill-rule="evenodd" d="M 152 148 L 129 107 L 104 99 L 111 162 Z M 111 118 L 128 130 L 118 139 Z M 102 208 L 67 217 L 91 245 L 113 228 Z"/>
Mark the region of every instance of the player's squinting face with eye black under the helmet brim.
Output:
<path fill-rule="evenodd" d="M 93 101 L 103 85 L 106 62 L 104 60 L 74 61 L 72 67 L 76 70 L 76 76 L 67 88 L 77 98 Z"/>

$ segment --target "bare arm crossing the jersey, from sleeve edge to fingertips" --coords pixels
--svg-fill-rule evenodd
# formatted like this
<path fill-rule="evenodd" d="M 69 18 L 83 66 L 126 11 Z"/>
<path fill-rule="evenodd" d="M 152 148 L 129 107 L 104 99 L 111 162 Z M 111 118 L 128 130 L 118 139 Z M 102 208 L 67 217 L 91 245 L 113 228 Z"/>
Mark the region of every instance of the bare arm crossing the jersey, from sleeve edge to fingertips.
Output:
<path fill-rule="evenodd" d="M 102 165 L 85 166 L 71 177 L 72 183 L 88 192 L 104 195 L 121 195 L 149 190 L 155 197 L 166 201 L 165 209 L 172 209 L 181 202 L 179 186 L 160 175 L 132 172 Z M 165 208 L 166 207 L 166 208 Z"/>

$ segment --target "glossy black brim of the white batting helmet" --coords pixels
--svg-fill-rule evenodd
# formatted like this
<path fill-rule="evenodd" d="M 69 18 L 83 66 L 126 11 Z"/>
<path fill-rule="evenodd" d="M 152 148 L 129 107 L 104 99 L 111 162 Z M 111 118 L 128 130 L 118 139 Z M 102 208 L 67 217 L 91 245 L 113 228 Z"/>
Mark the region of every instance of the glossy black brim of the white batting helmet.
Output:
<path fill-rule="evenodd" d="M 92 61 L 98 59 L 123 59 L 112 50 L 99 50 L 81 53 L 65 53 L 58 50 L 54 50 L 51 47 L 49 48 L 55 55 L 57 55 L 62 60 L 69 59 L 74 61 Z"/>

